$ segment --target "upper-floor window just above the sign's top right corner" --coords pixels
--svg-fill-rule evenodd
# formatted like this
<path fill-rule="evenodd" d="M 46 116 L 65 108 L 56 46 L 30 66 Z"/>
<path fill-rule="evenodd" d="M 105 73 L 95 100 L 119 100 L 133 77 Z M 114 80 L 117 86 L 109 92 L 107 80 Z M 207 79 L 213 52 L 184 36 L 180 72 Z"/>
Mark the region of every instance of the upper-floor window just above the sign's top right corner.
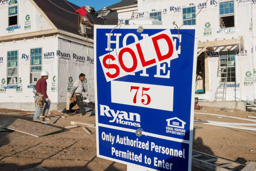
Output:
<path fill-rule="evenodd" d="M 187 7 L 182 9 L 183 25 L 196 25 L 196 7 Z M 190 21 L 194 18 L 192 21 Z"/>

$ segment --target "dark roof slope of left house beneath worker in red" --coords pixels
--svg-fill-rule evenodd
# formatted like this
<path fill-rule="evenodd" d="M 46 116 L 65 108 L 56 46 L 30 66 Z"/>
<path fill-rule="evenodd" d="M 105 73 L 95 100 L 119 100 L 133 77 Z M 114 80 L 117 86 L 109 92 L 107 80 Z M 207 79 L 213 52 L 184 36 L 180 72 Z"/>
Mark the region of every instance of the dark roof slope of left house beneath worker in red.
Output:
<path fill-rule="evenodd" d="M 47 17 L 52 21 L 52 23 L 60 30 L 64 30 L 67 32 L 74 33 L 76 35 L 80 35 L 78 30 L 78 24 L 80 22 L 80 16 L 78 19 L 75 9 L 79 9 L 81 7 L 78 7 L 77 5 L 74 5 L 71 2 L 64 0 L 33 0 L 36 2 L 38 7 L 43 10 L 43 12 L 47 15 Z M 52 3 L 54 4 L 52 4 Z M 57 6 L 58 7 L 57 7 Z M 71 6 L 69 6 L 71 5 Z M 62 9 L 61 9 L 62 8 Z M 65 9 L 65 10 L 63 10 Z M 67 12 L 69 11 L 69 12 Z M 72 13 L 70 13 L 72 12 Z M 101 18 L 97 18 L 97 16 L 92 16 L 92 14 L 87 14 L 90 22 L 92 24 L 104 24 L 104 21 Z M 86 33 L 88 38 L 93 39 L 93 27 L 91 25 L 88 25 L 91 29 L 86 29 Z"/>

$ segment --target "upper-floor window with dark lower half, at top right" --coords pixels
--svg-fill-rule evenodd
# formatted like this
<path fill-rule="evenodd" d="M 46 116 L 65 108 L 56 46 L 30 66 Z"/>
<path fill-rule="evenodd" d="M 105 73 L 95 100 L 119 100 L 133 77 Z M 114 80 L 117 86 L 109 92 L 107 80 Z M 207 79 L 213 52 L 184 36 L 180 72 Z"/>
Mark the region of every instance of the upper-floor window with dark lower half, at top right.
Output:
<path fill-rule="evenodd" d="M 220 28 L 235 27 L 234 1 L 219 3 Z"/>

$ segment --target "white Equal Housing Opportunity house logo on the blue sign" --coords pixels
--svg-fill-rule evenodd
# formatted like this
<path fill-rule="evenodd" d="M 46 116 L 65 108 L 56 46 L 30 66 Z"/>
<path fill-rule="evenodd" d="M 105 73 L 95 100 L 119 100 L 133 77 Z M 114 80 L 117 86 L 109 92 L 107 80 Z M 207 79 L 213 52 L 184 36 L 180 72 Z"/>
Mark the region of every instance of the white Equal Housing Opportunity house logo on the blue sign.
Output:
<path fill-rule="evenodd" d="M 166 132 L 169 134 L 176 134 L 184 136 L 186 131 L 184 129 L 186 122 L 180 120 L 179 118 L 166 119 L 167 127 Z"/>

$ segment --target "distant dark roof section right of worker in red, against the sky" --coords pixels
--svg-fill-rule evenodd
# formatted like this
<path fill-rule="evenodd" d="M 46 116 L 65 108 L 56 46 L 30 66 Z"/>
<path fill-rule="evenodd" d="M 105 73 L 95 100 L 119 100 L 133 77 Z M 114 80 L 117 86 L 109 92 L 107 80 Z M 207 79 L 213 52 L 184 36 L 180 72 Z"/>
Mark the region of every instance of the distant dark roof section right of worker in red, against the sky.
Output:
<path fill-rule="evenodd" d="M 109 7 L 107 7 L 108 9 L 111 8 L 117 8 L 117 7 L 126 7 L 126 6 L 130 6 L 130 5 L 137 5 L 137 0 L 122 0 L 114 5 L 110 5 Z M 100 9 L 99 11 L 97 11 L 98 14 L 100 14 L 102 12 L 102 9 Z M 112 12 L 111 14 L 107 15 L 107 16 L 102 16 L 102 18 L 104 18 L 105 20 L 110 20 L 110 19 L 114 19 L 114 18 L 118 18 L 118 14 L 116 11 Z M 116 20 L 118 22 L 118 19 Z M 117 24 L 117 23 L 116 23 Z"/>

